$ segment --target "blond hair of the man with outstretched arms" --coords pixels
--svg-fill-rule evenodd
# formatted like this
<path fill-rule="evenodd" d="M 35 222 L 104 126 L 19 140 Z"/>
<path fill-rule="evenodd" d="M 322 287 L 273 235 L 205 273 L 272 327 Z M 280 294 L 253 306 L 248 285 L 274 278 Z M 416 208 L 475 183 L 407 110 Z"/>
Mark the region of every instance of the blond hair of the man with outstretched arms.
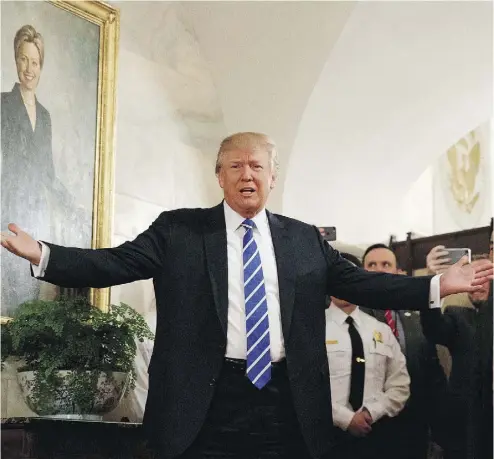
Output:
<path fill-rule="evenodd" d="M 268 153 L 269 161 L 271 163 L 271 170 L 276 177 L 279 170 L 278 162 L 278 150 L 274 141 L 266 134 L 259 132 L 237 132 L 223 139 L 216 156 L 216 168 L 215 172 L 220 172 L 225 153 L 231 150 L 243 149 L 243 150 L 263 150 Z"/>

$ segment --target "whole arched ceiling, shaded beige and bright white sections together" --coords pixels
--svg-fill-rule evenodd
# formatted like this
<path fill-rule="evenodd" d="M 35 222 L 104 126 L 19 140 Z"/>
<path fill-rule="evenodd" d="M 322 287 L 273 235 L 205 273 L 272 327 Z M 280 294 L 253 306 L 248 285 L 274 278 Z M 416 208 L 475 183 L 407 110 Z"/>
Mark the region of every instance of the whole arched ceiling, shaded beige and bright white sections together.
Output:
<path fill-rule="evenodd" d="M 160 27 L 167 3 L 142 3 Z M 491 116 L 491 2 L 175 5 L 226 131 L 280 147 L 269 208 L 335 225 L 345 242 L 362 242 L 363 227 L 365 240 L 387 238 L 430 161 Z"/>

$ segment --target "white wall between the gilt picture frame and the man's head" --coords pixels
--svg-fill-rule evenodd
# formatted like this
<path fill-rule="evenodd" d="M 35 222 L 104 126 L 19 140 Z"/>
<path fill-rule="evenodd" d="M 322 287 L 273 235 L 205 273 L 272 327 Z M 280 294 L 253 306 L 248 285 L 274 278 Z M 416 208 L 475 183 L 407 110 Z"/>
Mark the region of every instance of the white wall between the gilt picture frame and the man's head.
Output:
<path fill-rule="evenodd" d="M 115 2 L 121 10 L 114 244 L 133 239 L 165 209 L 208 207 L 225 136 L 207 62 L 179 3 Z M 142 24 L 146 24 L 143 27 Z M 151 282 L 112 289 L 112 302 L 144 312 Z"/>

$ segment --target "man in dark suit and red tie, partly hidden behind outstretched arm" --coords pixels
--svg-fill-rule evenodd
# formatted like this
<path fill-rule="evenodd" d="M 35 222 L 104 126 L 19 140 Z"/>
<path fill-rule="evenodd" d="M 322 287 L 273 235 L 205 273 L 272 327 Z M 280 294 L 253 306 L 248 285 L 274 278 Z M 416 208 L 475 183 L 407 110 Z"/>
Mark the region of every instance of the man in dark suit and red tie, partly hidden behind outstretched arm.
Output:
<path fill-rule="evenodd" d="M 364 269 L 398 273 L 394 252 L 384 244 L 371 245 L 363 256 Z M 431 433 L 441 438 L 441 418 L 446 394 L 446 376 L 439 363 L 435 345 L 422 333 L 420 316 L 411 311 L 366 310 L 387 323 L 407 359 L 410 398 L 395 422 L 400 426 L 396 440 L 396 459 L 426 459 Z M 391 439 L 390 439 L 391 441 Z"/>

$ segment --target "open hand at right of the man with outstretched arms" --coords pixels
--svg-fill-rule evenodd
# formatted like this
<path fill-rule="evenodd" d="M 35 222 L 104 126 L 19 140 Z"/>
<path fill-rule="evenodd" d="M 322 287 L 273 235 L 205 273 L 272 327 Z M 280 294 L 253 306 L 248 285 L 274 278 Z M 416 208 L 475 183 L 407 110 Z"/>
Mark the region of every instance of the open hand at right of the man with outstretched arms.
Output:
<path fill-rule="evenodd" d="M 441 298 L 454 293 L 474 292 L 494 277 L 494 264 L 490 260 L 468 263 L 463 257 L 448 268 L 440 278 Z"/>

